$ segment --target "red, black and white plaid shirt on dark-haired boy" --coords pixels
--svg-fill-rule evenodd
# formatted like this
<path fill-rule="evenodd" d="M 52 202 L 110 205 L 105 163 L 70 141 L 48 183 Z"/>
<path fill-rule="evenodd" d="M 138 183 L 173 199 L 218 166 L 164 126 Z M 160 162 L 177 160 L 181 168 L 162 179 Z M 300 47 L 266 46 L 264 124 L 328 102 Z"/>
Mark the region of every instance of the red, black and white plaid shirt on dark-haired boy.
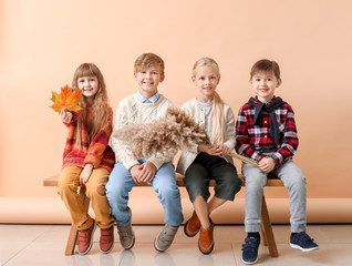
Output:
<path fill-rule="evenodd" d="M 284 103 L 275 110 L 275 114 L 280 131 L 279 140 L 270 136 L 270 116 L 267 112 L 262 111 L 261 126 L 259 126 L 255 125 L 255 106 L 246 103 L 239 110 L 235 146 L 238 154 L 260 161 L 266 156 L 263 153 L 272 152 L 271 157 L 276 165 L 293 156 L 298 147 L 293 110 Z"/>

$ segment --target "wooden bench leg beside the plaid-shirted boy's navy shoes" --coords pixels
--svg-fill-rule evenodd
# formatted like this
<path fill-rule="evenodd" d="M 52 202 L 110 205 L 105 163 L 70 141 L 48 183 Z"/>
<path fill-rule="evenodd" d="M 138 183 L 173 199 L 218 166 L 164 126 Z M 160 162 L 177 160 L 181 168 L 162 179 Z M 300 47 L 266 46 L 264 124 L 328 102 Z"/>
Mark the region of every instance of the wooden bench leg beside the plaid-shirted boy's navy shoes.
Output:
<path fill-rule="evenodd" d="M 268 246 L 270 256 L 279 257 L 265 196 L 262 196 L 262 203 L 261 203 L 261 232 L 263 235 L 263 244 Z"/>

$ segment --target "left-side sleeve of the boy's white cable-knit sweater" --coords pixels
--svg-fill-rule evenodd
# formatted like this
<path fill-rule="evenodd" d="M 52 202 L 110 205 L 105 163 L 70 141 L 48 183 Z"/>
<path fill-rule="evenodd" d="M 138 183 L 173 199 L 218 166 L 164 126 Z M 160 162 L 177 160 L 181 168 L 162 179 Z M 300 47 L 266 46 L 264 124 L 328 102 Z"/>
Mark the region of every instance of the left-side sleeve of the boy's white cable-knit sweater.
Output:
<path fill-rule="evenodd" d="M 131 147 L 115 136 L 115 132 L 130 122 L 128 112 L 128 105 L 125 104 L 125 102 L 121 102 L 116 110 L 114 129 L 111 139 L 116 160 L 121 162 L 127 170 L 130 170 L 133 165 L 139 163 L 137 160 L 134 158 Z"/>

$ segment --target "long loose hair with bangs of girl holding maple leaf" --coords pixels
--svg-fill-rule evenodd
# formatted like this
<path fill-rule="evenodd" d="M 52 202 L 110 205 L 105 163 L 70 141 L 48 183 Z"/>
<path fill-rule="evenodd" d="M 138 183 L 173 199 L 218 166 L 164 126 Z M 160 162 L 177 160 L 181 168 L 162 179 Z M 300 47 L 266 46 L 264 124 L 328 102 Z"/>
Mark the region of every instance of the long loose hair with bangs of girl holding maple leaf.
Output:
<path fill-rule="evenodd" d="M 97 79 L 97 92 L 94 95 L 92 103 L 92 115 L 86 119 L 86 98 L 83 95 L 83 101 L 79 104 L 82 110 L 77 121 L 76 142 L 79 145 L 82 143 L 82 126 L 83 122 L 86 123 L 89 132 L 89 142 L 94 139 L 97 132 L 107 123 L 110 117 L 108 98 L 105 86 L 105 81 L 100 69 L 93 63 L 83 63 L 74 72 L 72 80 L 73 91 L 80 90 L 77 86 L 77 80 L 82 76 L 93 75 Z"/>

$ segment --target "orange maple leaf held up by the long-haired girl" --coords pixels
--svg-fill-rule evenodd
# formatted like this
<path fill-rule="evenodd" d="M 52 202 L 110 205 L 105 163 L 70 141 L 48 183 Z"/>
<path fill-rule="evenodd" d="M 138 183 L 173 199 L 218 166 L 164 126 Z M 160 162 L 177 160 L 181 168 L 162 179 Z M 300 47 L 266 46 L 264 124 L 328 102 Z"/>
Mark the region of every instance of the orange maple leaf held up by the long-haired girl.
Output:
<path fill-rule="evenodd" d="M 52 92 L 51 101 L 54 102 L 51 108 L 55 112 L 61 112 L 63 108 L 66 108 L 69 111 L 80 111 L 82 108 L 79 105 L 79 102 L 82 101 L 82 91 L 72 92 L 72 88 L 65 85 L 61 88 L 61 93 Z"/>

